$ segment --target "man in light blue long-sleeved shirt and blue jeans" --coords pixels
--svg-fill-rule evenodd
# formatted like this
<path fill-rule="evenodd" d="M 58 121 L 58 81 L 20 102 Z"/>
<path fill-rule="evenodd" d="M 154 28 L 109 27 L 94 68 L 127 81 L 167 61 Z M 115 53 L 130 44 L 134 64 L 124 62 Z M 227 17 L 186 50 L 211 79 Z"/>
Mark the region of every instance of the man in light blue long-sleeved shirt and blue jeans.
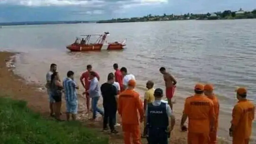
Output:
<path fill-rule="evenodd" d="M 99 81 L 98 81 L 96 72 L 91 71 L 89 78 L 91 80 L 90 87 L 87 91 L 85 91 L 85 93 L 88 93 L 90 98 L 92 98 L 93 118 L 91 118 L 91 120 L 95 120 L 97 112 L 99 112 L 102 116 L 104 115 L 104 113 L 97 106 L 99 97 L 100 97 L 99 95 L 100 87 L 99 87 Z"/>

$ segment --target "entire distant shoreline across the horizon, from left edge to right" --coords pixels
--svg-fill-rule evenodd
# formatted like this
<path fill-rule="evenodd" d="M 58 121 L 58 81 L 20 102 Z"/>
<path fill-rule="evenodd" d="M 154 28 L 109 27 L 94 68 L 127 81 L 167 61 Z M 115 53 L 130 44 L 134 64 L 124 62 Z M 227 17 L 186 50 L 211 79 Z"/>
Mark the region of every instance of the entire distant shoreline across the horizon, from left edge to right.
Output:
<path fill-rule="evenodd" d="M 173 20 L 234 20 L 234 19 L 254 19 L 256 18 L 256 9 L 253 11 L 244 11 L 240 8 L 238 11 L 225 10 L 207 14 L 192 14 L 183 15 L 166 15 L 162 16 L 151 14 L 143 17 L 134 18 L 116 18 L 111 20 L 99 21 L 48 21 L 48 22 L 6 22 L 0 23 L 1 26 L 18 26 L 18 25 L 41 25 L 41 24 L 79 24 L 79 23 L 123 23 L 123 22 L 152 22 L 152 21 L 173 21 Z"/>

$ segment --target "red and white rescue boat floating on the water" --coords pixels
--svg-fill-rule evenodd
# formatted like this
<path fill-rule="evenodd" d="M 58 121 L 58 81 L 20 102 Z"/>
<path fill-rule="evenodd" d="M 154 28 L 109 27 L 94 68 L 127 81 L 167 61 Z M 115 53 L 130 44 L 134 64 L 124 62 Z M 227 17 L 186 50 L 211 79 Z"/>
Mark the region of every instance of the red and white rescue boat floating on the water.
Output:
<path fill-rule="evenodd" d="M 104 32 L 104 34 L 85 34 L 81 37 L 77 37 L 76 41 L 71 45 L 66 46 L 70 51 L 101 51 L 105 50 L 122 50 L 126 46 L 124 40 L 121 42 L 107 43 L 106 38 L 109 32 Z M 92 36 L 98 36 L 95 43 L 89 43 Z M 107 43 L 107 44 L 106 44 Z"/>

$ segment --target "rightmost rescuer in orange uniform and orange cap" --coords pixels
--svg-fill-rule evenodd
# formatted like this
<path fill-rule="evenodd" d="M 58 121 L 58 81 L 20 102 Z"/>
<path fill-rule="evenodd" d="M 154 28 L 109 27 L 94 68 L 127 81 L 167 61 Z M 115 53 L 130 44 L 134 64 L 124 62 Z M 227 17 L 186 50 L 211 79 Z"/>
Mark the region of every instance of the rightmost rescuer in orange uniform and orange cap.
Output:
<path fill-rule="evenodd" d="M 233 108 L 230 137 L 233 137 L 232 144 L 249 144 L 254 120 L 255 106 L 246 99 L 247 89 L 240 87 L 236 90 L 238 102 Z"/>

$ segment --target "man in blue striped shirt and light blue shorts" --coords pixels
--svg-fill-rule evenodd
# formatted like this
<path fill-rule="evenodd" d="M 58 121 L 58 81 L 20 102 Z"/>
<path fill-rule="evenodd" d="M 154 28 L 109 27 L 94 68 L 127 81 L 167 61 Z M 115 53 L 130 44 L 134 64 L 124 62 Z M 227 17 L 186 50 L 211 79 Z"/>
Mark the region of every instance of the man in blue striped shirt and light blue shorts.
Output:
<path fill-rule="evenodd" d="M 72 120 L 76 120 L 76 114 L 78 109 L 76 89 L 79 88 L 74 81 L 74 72 L 68 71 L 67 78 L 63 80 L 63 87 L 65 90 L 67 120 L 69 121 L 70 114 L 72 115 Z"/>

